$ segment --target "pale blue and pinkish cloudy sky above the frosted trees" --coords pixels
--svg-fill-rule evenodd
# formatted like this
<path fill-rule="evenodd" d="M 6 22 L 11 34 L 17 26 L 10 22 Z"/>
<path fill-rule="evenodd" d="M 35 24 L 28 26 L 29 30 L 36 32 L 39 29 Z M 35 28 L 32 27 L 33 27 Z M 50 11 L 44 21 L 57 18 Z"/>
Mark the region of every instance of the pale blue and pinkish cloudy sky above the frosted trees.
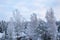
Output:
<path fill-rule="evenodd" d="M 49 8 L 53 8 L 56 19 L 60 20 L 60 0 L 0 0 L 0 20 L 9 21 L 15 9 L 27 20 L 32 13 L 45 20 Z"/>

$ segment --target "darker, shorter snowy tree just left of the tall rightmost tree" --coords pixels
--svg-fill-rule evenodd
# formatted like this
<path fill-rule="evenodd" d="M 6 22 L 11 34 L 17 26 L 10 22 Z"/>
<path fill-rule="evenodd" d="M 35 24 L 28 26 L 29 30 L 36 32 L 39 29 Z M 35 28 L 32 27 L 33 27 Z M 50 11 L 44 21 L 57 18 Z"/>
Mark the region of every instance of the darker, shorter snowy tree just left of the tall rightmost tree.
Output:
<path fill-rule="evenodd" d="M 35 33 L 37 37 L 40 38 L 41 40 L 44 39 L 44 34 L 47 32 L 46 29 L 47 29 L 46 22 L 39 19 L 38 27 L 35 29 Z"/>

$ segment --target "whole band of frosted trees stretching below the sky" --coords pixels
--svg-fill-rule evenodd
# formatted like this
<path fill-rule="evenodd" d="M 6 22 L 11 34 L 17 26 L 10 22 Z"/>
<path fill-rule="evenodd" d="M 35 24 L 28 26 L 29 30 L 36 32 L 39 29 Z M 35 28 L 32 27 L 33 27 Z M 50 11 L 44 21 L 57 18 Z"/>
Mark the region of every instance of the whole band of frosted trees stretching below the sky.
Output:
<path fill-rule="evenodd" d="M 20 14 L 19 10 L 13 11 L 13 17 L 9 22 L 0 22 L 0 32 L 5 32 L 5 38 L 9 36 L 9 40 L 13 40 L 13 32 L 15 32 L 16 40 L 22 35 L 28 36 L 33 40 L 41 38 L 42 40 L 56 40 L 57 31 L 60 31 L 60 26 L 57 29 L 57 25 L 60 25 L 59 21 L 56 21 L 54 12 L 52 9 L 46 13 L 47 22 L 38 19 L 37 15 L 33 13 L 30 17 L 30 21 L 26 21 Z M 14 29 L 14 30 L 13 30 Z"/>

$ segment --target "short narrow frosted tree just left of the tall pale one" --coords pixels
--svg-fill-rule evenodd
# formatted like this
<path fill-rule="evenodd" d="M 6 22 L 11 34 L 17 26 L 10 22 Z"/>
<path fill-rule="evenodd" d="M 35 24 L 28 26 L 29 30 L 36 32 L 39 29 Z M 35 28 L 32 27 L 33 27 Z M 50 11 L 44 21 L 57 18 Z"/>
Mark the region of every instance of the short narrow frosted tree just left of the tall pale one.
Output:
<path fill-rule="evenodd" d="M 11 20 L 8 22 L 7 33 L 8 33 L 8 40 L 13 40 L 13 38 L 14 38 L 14 22 L 13 22 L 12 17 L 11 17 Z"/>

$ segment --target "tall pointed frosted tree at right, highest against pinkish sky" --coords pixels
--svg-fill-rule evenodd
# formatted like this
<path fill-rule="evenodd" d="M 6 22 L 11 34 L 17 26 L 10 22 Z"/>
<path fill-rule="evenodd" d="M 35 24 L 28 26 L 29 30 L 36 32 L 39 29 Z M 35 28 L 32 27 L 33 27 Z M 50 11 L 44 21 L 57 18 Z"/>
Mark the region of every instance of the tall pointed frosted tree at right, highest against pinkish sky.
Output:
<path fill-rule="evenodd" d="M 49 27 L 48 33 L 51 34 L 51 40 L 56 40 L 57 26 L 56 26 L 56 20 L 52 8 L 47 11 L 46 19 L 47 19 L 47 26 Z"/>

